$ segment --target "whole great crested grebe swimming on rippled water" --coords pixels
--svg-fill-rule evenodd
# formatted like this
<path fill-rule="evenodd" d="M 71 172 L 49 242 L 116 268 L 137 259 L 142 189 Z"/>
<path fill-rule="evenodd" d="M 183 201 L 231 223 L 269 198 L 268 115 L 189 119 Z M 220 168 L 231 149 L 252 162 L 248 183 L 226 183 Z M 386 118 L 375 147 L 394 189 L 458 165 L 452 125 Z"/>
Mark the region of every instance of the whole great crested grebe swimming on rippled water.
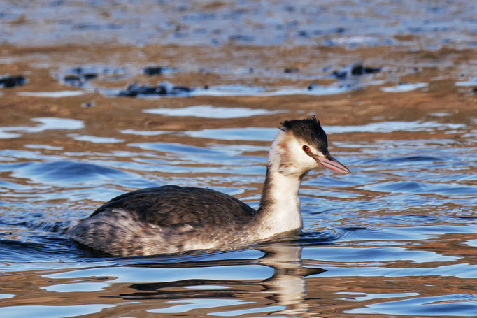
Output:
<path fill-rule="evenodd" d="M 281 124 L 257 210 L 212 189 L 164 185 L 111 199 L 66 235 L 107 254 L 143 256 L 227 250 L 301 229 L 298 190 L 308 171 L 350 171 L 329 154 L 315 116 Z"/>

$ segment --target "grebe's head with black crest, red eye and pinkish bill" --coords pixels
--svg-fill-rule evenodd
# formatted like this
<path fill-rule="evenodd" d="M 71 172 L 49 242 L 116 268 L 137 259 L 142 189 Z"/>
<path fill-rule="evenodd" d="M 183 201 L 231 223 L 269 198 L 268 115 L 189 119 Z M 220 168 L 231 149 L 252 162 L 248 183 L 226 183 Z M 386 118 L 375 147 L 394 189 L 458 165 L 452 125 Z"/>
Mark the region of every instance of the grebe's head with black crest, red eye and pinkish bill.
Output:
<path fill-rule="evenodd" d="M 269 164 L 279 173 L 303 178 L 308 171 L 319 166 L 350 173 L 329 154 L 327 135 L 315 116 L 281 124 L 281 131 L 273 140 L 269 153 Z"/>

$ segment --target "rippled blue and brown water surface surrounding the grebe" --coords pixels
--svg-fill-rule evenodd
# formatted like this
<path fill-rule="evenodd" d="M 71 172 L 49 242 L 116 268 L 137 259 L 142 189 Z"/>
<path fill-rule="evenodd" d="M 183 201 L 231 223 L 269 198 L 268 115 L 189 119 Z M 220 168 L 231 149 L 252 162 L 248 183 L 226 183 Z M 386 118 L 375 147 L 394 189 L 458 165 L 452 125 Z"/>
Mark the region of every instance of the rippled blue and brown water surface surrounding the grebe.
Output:
<path fill-rule="evenodd" d="M 4 317 L 476 315 L 474 2 L 311 2 L 1 4 L 0 75 L 26 77 L 0 87 Z M 313 114 L 353 173 L 304 179 L 301 236 L 131 258 L 64 237 L 143 187 L 256 207 L 280 122 Z"/>

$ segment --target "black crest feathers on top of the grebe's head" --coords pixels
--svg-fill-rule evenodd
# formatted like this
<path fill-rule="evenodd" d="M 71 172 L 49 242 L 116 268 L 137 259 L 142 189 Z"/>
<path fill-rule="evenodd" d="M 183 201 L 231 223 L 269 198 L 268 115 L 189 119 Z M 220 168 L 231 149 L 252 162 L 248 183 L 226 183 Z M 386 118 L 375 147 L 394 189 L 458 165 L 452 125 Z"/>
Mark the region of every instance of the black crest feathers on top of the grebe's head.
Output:
<path fill-rule="evenodd" d="M 315 115 L 304 120 L 286 120 L 281 124 L 283 131 L 292 131 L 295 137 L 301 138 L 308 145 L 313 145 L 322 154 L 328 153 L 327 134 L 321 128 L 320 121 Z"/>

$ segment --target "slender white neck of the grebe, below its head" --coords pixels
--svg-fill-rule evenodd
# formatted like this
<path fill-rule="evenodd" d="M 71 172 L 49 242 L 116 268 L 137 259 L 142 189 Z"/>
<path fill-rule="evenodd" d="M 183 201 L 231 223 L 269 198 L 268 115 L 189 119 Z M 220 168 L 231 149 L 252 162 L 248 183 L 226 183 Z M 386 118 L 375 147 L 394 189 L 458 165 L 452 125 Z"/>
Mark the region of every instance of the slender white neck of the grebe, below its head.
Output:
<path fill-rule="evenodd" d="M 266 166 L 262 198 L 257 210 L 260 238 L 301 229 L 300 181 L 296 175 L 280 173 L 273 163 L 269 162 Z"/>

